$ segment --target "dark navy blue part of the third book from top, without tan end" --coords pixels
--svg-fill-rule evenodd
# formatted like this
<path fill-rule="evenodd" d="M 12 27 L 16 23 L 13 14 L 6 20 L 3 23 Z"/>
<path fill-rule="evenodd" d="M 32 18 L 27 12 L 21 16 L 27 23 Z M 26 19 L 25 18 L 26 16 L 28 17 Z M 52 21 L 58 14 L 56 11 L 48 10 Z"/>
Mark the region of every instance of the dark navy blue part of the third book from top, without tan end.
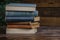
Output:
<path fill-rule="evenodd" d="M 28 22 L 34 21 L 34 17 L 6 17 L 6 22 Z"/>

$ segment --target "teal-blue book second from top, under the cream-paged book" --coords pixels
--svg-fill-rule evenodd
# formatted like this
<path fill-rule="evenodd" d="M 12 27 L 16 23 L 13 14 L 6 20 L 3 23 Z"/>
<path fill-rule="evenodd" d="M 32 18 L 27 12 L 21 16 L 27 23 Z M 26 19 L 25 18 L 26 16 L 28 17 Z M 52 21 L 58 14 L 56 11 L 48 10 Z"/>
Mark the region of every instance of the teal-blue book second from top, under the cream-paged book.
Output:
<path fill-rule="evenodd" d="M 7 11 L 6 17 L 34 17 L 38 16 L 38 11 Z"/>

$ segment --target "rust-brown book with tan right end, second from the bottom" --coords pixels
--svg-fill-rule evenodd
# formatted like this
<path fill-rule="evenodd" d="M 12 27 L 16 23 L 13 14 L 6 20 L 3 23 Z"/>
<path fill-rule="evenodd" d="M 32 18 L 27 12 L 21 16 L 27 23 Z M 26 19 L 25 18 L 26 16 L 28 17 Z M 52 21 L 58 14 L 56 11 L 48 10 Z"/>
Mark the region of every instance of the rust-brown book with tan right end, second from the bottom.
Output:
<path fill-rule="evenodd" d="M 15 24 L 7 24 L 7 27 L 8 28 L 37 28 L 37 27 L 39 27 L 40 26 L 40 24 L 38 23 L 38 24 L 29 24 L 29 25 L 22 25 L 22 24 L 20 24 L 20 25 L 15 25 Z"/>

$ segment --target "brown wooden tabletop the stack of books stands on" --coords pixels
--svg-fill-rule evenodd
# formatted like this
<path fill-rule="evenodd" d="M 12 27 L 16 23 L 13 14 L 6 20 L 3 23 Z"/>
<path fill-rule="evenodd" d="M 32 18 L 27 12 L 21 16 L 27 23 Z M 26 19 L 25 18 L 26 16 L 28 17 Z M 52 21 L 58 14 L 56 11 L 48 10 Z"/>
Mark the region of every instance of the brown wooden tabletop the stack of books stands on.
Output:
<path fill-rule="evenodd" d="M 60 40 L 60 27 L 41 26 L 36 34 L 0 35 L 0 40 Z"/>

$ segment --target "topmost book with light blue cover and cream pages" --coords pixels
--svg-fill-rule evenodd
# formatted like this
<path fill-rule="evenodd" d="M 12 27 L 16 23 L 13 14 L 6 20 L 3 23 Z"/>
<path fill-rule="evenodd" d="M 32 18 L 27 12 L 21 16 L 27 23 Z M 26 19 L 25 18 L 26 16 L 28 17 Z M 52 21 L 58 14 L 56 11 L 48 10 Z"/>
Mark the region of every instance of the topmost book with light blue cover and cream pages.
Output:
<path fill-rule="evenodd" d="M 6 5 L 6 10 L 12 11 L 35 11 L 36 4 L 19 4 L 19 3 L 11 3 Z"/>

